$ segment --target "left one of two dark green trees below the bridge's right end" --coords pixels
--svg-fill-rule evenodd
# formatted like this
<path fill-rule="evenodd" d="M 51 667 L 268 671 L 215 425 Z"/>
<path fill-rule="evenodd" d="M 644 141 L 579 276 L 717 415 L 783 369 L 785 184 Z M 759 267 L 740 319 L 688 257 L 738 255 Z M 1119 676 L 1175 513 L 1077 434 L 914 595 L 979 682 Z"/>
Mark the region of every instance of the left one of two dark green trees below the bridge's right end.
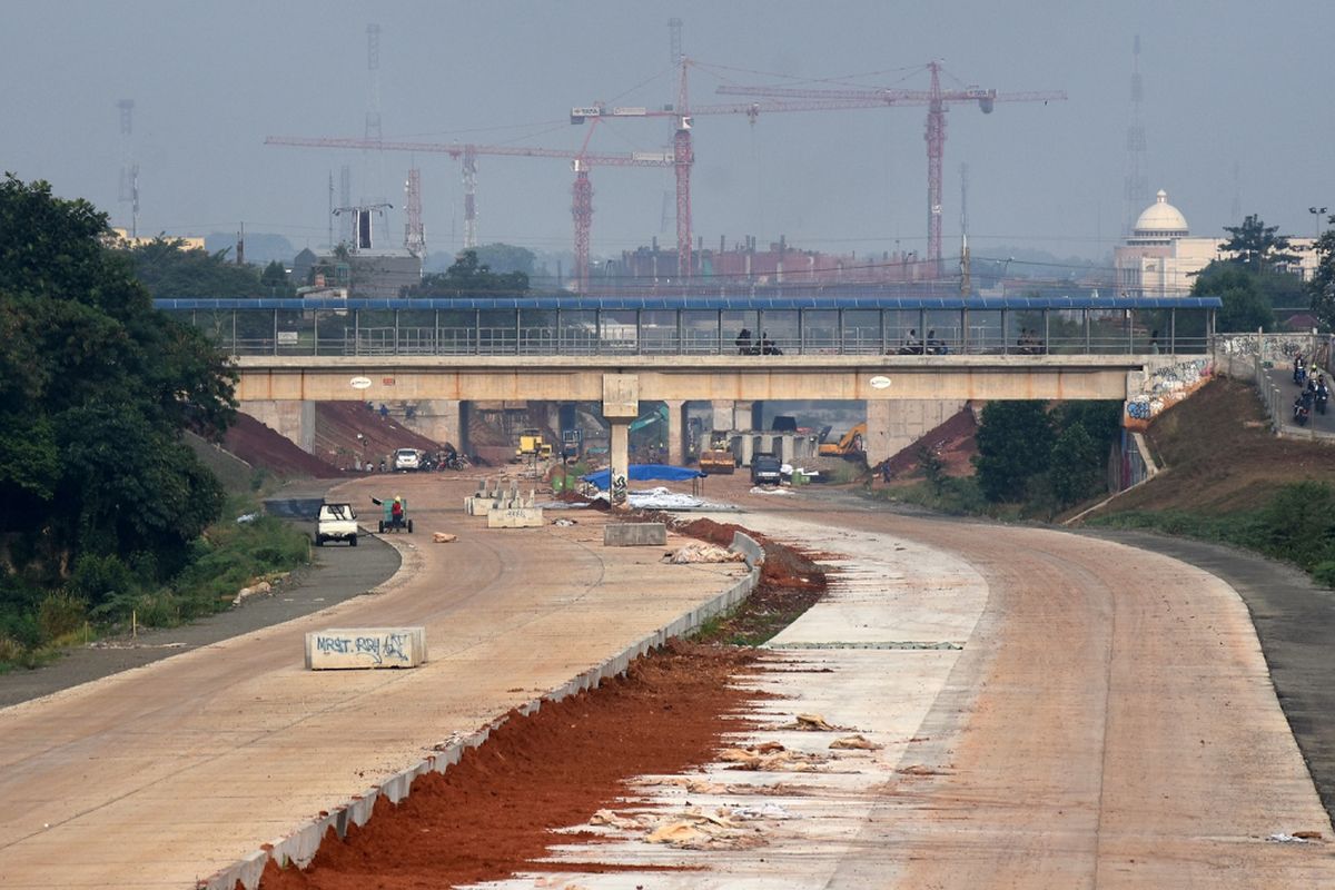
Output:
<path fill-rule="evenodd" d="M 1020 500 L 1029 479 L 1052 459 L 1052 420 L 1043 402 L 989 402 L 973 458 L 979 488 L 992 502 Z"/>

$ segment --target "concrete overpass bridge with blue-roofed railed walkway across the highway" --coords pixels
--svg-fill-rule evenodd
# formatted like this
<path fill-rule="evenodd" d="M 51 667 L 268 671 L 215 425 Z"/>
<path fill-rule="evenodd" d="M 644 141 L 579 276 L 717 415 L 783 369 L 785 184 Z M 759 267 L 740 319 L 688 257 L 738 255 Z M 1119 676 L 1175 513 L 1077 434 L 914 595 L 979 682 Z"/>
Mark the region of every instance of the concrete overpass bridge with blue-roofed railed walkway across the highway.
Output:
<path fill-rule="evenodd" d="M 862 400 L 881 460 L 968 399 L 1131 399 L 1203 360 L 1218 298 L 156 300 L 235 356 L 242 408 L 310 448 L 319 400 L 409 402 L 466 440 L 481 400 L 598 402 L 626 466 L 641 400 L 714 428 L 769 399 Z"/>

